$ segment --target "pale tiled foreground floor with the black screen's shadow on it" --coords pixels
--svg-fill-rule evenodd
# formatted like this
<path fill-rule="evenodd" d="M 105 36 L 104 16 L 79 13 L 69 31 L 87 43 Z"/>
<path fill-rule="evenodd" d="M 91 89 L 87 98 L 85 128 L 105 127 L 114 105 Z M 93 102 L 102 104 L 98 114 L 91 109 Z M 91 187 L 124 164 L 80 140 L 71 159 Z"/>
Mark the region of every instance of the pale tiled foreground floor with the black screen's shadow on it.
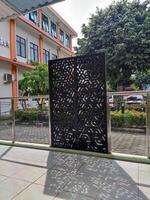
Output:
<path fill-rule="evenodd" d="M 0 200 L 149 200 L 150 165 L 0 145 Z"/>

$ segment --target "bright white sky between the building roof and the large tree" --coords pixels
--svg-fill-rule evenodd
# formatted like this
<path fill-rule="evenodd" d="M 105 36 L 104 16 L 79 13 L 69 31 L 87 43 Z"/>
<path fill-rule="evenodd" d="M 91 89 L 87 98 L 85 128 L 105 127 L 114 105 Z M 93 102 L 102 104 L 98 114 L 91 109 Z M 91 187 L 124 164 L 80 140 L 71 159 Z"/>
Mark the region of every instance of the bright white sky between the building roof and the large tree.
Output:
<path fill-rule="evenodd" d="M 81 37 L 81 26 L 88 22 L 90 14 L 95 13 L 96 7 L 106 8 L 113 0 L 65 0 L 52 7 L 72 26 Z M 77 39 L 73 40 L 73 46 Z"/>

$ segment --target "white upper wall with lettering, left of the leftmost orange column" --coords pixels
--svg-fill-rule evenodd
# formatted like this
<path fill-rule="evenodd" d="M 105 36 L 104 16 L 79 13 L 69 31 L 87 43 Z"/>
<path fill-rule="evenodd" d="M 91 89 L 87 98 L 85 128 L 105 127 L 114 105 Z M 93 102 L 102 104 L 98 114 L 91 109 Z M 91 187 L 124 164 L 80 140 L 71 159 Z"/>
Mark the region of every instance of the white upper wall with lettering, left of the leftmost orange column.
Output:
<path fill-rule="evenodd" d="M 0 38 L 3 41 L 8 41 L 10 45 L 10 31 L 9 31 L 9 21 L 0 22 Z M 0 45 L 0 56 L 10 57 L 10 47 L 4 47 Z"/>

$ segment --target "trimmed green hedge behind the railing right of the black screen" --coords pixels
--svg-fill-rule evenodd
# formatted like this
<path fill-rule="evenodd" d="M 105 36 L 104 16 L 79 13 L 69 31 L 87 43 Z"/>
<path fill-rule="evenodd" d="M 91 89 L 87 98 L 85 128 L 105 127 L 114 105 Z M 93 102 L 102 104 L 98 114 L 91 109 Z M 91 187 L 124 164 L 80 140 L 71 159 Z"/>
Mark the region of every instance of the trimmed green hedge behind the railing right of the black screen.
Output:
<path fill-rule="evenodd" d="M 146 125 L 146 114 L 138 111 L 111 112 L 112 127 L 144 127 Z"/>

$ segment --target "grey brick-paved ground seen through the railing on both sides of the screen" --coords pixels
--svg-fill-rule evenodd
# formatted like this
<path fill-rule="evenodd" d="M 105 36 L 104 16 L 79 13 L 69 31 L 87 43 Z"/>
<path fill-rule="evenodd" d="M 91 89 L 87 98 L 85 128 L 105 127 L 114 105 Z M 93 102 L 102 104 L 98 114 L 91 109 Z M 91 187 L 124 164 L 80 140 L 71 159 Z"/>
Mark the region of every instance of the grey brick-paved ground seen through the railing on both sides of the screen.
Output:
<path fill-rule="evenodd" d="M 36 125 L 17 125 L 16 141 L 30 143 L 49 143 L 48 127 Z M 0 124 L 0 140 L 11 140 L 10 126 Z M 112 151 L 125 154 L 146 156 L 146 135 L 143 133 L 112 131 Z"/>

